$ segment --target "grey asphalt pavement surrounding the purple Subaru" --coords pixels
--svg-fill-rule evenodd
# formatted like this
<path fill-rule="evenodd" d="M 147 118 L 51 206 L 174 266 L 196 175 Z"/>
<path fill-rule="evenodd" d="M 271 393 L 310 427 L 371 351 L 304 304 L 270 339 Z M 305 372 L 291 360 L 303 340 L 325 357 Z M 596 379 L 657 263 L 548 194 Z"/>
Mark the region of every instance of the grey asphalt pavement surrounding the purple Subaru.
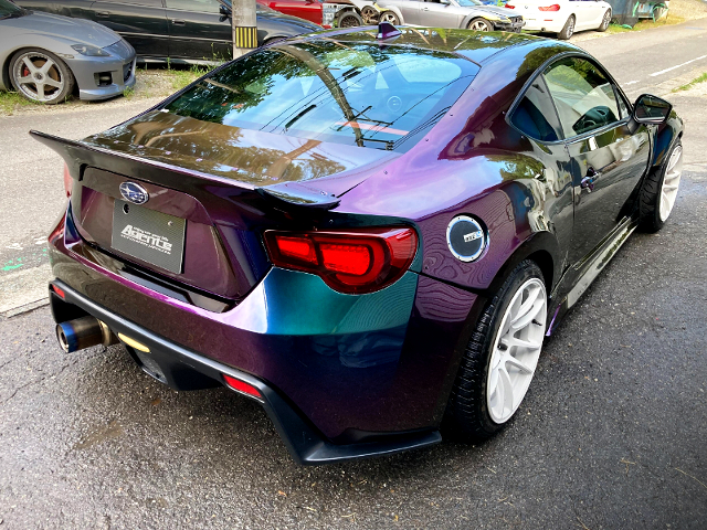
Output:
<path fill-rule="evenodd" d="M 704 22 L 580 44 L 621 83 L 637 81 L 626 88 L 665 94 L 707 70 L 703 60 L 680 66 L 707 54 Z M 684 41 L 685 31 L 695 36 Z M 639 61 L 652 43 L 655 61 Z M 547 341 L 499 436 L 299 467 L 256 404 L 225 389 L 171 391 L 122 347 L 64 354 L 41 307 L 0 317 L 0 529 L 707 528 L 707 99 L 669 98 L 687 120 L 688 168 L 671 220 L 633 235 Z M 27 129 L 53 124 L 80 137 L 131 112 L 0 118 L 0 151 L 18 179 L 1 186 L 22 184 Z M 61 209 L 61 169 L 42 172 L 54 162 L 38 152 L 27 170 L 38 193 L 28 193 L 44 202 L 22 210 L 6 199 L 2 252 L 40 247 L 35 225 Z M 28 269 L 41 268 L 36 259 Z"/>

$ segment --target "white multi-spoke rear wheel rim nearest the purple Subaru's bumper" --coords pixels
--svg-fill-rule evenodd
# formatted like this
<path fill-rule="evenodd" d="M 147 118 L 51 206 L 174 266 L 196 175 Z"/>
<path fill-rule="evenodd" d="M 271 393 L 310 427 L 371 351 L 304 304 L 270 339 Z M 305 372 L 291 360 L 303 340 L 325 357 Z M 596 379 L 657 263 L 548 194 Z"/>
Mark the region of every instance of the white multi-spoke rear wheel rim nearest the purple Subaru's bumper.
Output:
<path fill-rule="evenodd" d="M 497 424 L 510 420 L 528 391 L 542 349 L 547 305 L 545 284 L 530 278 L 503 316 L 486 381 L 488 414 Z"/>

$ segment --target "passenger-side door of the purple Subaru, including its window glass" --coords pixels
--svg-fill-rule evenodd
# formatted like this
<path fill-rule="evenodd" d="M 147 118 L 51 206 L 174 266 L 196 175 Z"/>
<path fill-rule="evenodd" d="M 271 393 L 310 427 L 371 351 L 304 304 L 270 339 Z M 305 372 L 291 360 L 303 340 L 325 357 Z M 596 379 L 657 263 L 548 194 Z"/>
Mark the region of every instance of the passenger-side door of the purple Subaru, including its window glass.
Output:
<path fill-rule="evenodd" d="M 629 125 L 629 106 L 609 75 L 583 57 L 564 57 L 542 74 L 571 160 L 574 227 L 570 263 L 579 263 L 633 212 L 651 153 L 648 129 Z"/>

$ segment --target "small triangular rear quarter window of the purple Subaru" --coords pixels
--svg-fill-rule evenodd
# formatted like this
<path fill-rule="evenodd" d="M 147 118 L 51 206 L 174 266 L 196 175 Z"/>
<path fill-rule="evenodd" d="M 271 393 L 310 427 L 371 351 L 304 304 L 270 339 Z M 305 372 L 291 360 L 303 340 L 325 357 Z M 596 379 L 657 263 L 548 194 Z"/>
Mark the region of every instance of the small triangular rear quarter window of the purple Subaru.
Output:
<path fill-rule="evenodd" d="M 513 112 L 510 123 L 536 140 L 560 139 L 560 125 L 542 80 L 537 78 L 527 89 L 526 95 Z"/>

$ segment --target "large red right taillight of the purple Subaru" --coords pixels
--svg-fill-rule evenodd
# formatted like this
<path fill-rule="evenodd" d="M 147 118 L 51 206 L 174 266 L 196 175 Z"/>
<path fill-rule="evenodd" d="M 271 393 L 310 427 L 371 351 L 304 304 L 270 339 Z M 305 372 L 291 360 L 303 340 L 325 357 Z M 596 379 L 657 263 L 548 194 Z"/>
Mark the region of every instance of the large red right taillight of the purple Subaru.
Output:
<path fill-rule="evenodd" d="M 380 290 L 410 267 L 418 248 L 413 229 L 346 232 L 265 232 L 271 261 L 278 267 L 316 274 L 335 290 Z"/>

